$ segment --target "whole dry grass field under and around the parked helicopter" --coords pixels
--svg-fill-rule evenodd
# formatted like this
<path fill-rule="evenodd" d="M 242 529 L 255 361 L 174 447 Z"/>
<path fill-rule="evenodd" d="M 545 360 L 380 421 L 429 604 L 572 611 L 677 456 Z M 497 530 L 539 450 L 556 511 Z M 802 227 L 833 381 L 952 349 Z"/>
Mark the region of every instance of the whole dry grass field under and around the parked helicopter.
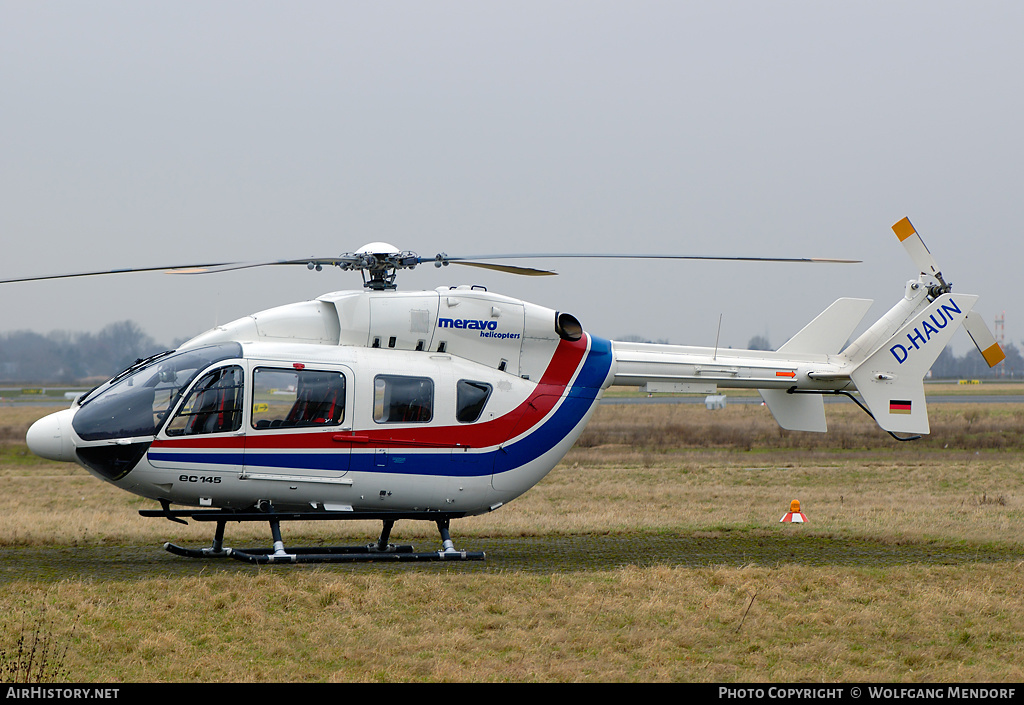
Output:
<path fill-rule="evenodd" d="M 152 502 L 28 454 L 0 409 L 7 680 L 1024 679 L 1024 408 L 934 405 L 897 443 L 852 405 L 827 436 L 757 405 L 602 406 L 507 507 L 453 525 L 483 564 L 189 561 Z M 809 523 L 779 524 L 792 499 Z M 287 525 L 292 544 L 379 527 Z M 265 545 L 265 527 L 228 528 Z M 436 546 L 432 527 L 394 539 Z M 35 651 L 33 651 L 35 645 Z M 43 653 L 45 650 L 45 653 Z M 32 665 L 27 654 L 34 653 Z"/>

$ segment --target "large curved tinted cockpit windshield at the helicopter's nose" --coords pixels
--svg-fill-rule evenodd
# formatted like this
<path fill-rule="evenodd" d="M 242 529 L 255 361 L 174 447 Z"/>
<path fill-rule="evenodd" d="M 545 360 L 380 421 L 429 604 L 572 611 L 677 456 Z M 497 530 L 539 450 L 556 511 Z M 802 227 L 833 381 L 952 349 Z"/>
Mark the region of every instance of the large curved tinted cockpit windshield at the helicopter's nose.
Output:
<path fill-rule="evenodd" d="M 168 409 L 200 372 L 241 357 L 242 345 L 229 342 L 138 362 L 89 392 L 72 426 L 84 441 L 156 436 Z"/>

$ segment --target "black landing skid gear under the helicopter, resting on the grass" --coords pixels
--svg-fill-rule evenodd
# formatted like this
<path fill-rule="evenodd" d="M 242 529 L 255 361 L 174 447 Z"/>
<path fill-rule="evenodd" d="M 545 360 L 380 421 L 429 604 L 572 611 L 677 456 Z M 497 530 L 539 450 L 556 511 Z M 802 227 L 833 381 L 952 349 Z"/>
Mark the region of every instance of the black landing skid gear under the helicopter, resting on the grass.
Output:
<path fill-rule="evenodd" d="M 345 512 L 326 514 L 322 512 L 276 513 L 272 511 L 231 512 L 222 510 L 173 511 L 165 505 L 162 510 L 142 509 L 142 516 L 161 516 L 172 522 L 184 523 L 183 517 L 198 522 L 216 522 L 213 544 L 206 548 L 186 548 L 173 543 L 165 543 L 164 548 L 175 555 L 189 558 L 234 558 L 251 564 L 278 563 L 373 563 L 373 562 L 437 562 L 437 561 L 483 561 L 483 551 L 465 551 L 455 548 L 449 533 L 449 524 L 456 515 L 438 512 Z M 459 514 L 458 516 L 461 516 Z M 416 551 L 411 545 L 389 543 L 391 529 L 399 519 L 429 520 L 437 525 L 441 536 L 441 549 L 436 551 Z M 285 548 L 281 535 L 283 520 L 380 520 L 384 523 L 376 543 L 360 546 L 303 546 Z M 227 522 L 266 522 L 273 537 L 272 548 L 226 548 L 224 547 L 224 527 Z"/>

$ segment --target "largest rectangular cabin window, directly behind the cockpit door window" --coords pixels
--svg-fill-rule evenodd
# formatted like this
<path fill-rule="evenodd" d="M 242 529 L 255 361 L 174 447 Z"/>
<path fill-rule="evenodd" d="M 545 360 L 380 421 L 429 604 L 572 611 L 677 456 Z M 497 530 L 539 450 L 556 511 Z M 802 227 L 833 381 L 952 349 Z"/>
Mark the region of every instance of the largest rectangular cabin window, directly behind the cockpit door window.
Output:
<path fill-rule="evenodd" d="M 253 428 L 336 426 L 344 419 L 342 373 L 271 368 L 253 373 Z"/>

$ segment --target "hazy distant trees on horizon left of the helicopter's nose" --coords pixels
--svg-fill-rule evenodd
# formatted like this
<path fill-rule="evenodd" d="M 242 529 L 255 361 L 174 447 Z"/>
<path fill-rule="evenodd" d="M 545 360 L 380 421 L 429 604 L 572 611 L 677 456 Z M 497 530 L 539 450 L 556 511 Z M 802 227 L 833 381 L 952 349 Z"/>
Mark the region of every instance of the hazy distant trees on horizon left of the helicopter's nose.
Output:
<path fill-rule="evenodd" d="M 139 358 L 168 349 L 132 321 L 92 333 L 0 333 L 0 382 L 80 384 L 109 379 Z"/>

